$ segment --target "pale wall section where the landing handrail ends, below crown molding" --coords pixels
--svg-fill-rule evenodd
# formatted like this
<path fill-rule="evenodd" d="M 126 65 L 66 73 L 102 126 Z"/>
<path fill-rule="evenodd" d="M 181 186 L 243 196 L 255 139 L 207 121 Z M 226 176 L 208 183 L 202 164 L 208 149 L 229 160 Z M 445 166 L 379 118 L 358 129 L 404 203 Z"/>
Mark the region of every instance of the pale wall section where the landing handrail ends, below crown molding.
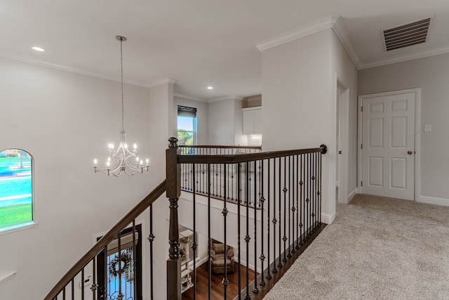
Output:
<path fill-rule="evenodd" d="M 331 30 L 311 34 L 262 52 L 264 151 L 318 148 L 335 151 L 331 97 Z M 333 159 L 333 160 L 331 160 Z M 323 156 L 323 215 L 335 217 L 335 154 Z"/>

